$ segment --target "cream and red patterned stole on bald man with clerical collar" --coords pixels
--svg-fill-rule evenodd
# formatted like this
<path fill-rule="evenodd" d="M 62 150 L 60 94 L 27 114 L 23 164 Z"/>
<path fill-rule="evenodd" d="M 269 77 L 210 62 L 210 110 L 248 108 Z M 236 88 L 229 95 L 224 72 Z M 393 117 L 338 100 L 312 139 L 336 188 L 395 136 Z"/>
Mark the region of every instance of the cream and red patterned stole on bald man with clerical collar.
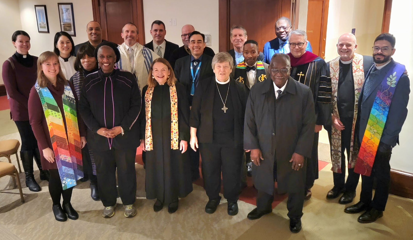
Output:
<path fill-rule="evenodd" d="M 337 91 L 338 91 L 338 79 L 339 79 L 339 68 L 340 68 L 340 57 L 330 61 L 330 77 L 331 77 L 331 87 L 332 87 L 332 110 L 333 115 L 336 118 L 340 118 L 337 109 Z M 354 128 L 356 126 L 357 110 L 358 110 L 358 97 L 360 96 L 361 87 L 363 87 L 364 82 L 364 68 L 363 68 L 363 55 L 354 53 L 352 62 L 352 73 L 354 79 L 354 113 L 353 113 L 353 123 L 351 125 L 351 140 L 350 140 L 350 157 L 348 158 L 349 168 L 353 168 L 356 165 L 357 160 L 357 148 L 354 148 Z M 341 173 L 341 131 L 331 128 L 331 170 L 333 172 Z"/>

